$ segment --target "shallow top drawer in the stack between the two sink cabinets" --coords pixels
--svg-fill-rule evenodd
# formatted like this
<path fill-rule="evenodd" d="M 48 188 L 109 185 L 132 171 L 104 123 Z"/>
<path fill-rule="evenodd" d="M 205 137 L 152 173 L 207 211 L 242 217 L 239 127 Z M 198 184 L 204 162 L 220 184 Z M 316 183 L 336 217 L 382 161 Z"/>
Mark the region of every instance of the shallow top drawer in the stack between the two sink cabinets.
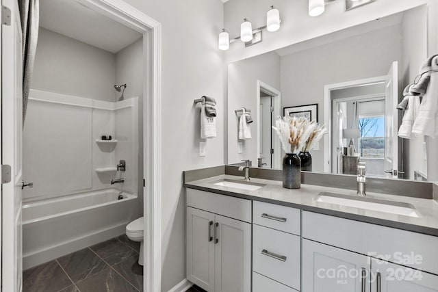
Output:
<path fill-rule="evenodd" d="M 253 223 L 300 235 L 300 209 L 253 201 Z"/>

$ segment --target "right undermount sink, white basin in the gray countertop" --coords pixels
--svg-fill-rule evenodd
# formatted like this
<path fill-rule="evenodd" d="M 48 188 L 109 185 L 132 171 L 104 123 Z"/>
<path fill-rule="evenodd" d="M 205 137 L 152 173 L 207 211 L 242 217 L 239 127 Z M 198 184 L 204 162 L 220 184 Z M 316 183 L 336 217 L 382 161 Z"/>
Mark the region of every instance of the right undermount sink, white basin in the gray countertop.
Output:
<path fill-rule="evenodd" d="M 366 197 L 347 196 L 342 194 L 333 194 L 321 192 L 313 200 L 329 204 L 337 204 L 346 207 L 355 207 L 372 211 L 392 213 L 409 217 L 419 217 L 413 204 L 405 202 L 394 202 Z"/>

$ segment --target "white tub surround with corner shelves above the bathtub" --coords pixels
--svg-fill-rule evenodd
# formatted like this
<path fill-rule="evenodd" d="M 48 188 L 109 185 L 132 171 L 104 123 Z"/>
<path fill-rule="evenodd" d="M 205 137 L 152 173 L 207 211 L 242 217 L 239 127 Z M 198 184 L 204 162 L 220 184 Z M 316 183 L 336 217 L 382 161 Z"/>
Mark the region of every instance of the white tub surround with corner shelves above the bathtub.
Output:
<path fill-rule="evenodd" d="M 31 90 L 26 120 L 23 174 L 34 187 L 23 189 L 25 202 L 106 189 L 120 177 L 118 188 L 137 193 L 137 97 L 110 103 Z M 123 173 L 114 171 L 121 159 Z"/>

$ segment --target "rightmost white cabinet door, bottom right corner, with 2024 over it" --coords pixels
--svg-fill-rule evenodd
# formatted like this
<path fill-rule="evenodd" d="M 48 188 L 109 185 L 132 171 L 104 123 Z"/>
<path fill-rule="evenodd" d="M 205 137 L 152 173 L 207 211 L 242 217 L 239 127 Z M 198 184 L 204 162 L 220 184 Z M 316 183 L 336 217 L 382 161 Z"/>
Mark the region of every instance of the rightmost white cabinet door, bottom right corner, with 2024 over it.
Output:
<path fill-rule="evenodd" d="M 438 276 L 372 259 L 372 292 L 438 292 Z"/>

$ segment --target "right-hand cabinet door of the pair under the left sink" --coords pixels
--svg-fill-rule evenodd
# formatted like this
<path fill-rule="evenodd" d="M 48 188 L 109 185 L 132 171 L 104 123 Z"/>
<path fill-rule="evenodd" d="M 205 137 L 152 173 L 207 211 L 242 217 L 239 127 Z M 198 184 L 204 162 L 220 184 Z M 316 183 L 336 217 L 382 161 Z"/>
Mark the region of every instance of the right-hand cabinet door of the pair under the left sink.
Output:
<path fill-rule="evenodd" d="M 215 291 L 250 292 L 251 224 L 216 215 L 215 228 Z"/>

